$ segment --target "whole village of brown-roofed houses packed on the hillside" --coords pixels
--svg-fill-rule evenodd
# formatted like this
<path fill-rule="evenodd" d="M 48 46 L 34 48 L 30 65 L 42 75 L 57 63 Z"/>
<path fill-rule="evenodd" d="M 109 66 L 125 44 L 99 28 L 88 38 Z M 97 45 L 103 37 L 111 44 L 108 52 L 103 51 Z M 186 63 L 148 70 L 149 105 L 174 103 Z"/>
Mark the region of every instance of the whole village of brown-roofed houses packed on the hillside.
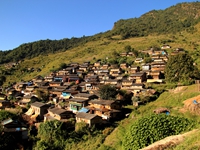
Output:
<path fill-rule="evenodd" d="M 11 107 L 7 99 L 15 99 L 14 104 L 29 108 L 23 114 L 25 120 L 67 121 L 75 118 L 76 122 L 84 121 L 89 126 L 101 124 L 123 117 L 120 99 L 103 100 L 98 89 L 100 85 L 109 84 L 116 89 L 126 90 L 133 95 L 147 92 L 146 83 L 162 83 L 168 55 L 164 50 L 149 50 L 152 62 L 145 64 L 142 58 L 134 60 L 134 66 L 126 63 L 118 65 L 96 62 L 70 63 L 68 66 L 48 76 L 37 76 L 29 82 L 18 82 L 0 94 L 0 109 Z M 129 57 L 130 53 L 121 56 Z M 48 94 L 48 101 L 39 101 L 36 91 Z M 43 94 L 42 93 L 42 94 Z M 3 125 L 12 121 L 6 120 Z M 24 127 L 23 127 L 24 129 Z"/>

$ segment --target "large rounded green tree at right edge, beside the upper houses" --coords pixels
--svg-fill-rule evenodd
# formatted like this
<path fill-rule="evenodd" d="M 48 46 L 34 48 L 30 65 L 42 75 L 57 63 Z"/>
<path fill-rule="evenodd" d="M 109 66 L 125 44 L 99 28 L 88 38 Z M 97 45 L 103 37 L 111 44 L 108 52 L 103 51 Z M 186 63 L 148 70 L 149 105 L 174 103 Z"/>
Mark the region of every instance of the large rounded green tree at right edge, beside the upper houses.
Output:
<path fill-rule="evenodd" d="M 195 79 L 199 79 L 198 69 L 193 63 L 192 57 L 187 53 L 171 56 L 165 67 L 166 81 L 191 84 Z"/>

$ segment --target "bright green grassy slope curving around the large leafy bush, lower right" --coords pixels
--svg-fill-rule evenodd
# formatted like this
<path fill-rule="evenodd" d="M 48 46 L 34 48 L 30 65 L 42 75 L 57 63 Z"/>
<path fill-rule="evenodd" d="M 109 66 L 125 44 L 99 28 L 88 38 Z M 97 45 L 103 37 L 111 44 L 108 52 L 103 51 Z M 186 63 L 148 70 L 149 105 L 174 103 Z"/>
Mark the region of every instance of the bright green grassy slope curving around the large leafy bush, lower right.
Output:
<path fill-rule="evenodd" d="M 122 120 L 119 123 L 119 126 L 109 136 L 107 136 L 107 138 L 104 141 L 104 144 L 111 146 L 116 150 L 122 149 L 121 141 L 123 139 L 124 133 L 129 129 L 129 126 L 134 122 L 134 120 L 146 114 L 152 113 L 154 109 L 159 107 L 169 108 L 171 115 L 184 116 L 186 118 L 192 118 L 197 121 L 200 121 L 199 116 L 183 109 L 184 100 L 192 98 L 199 94 L 200 91 L 197 91 L 197 85 L 184 87 L 181 90 L 176 90 L 176 91 L 171 90 L 164 92 L 163 94 L 160 95 L 160 97 L 156 101 L 150 102 L 145 106 L 141 106 L 137 110 L 133 109 L 133 112 L 131 113 L 129 118 Z M 198 134 L 195 133 L 195 135 L 187 137 L 185 141 L 187 144 L 185 144 L 185 142 L 181 143 L 181 145 L 177 146 L 176 149 L 179 149 L 179 147 L 180 149 L 182 149 L 183 147 L 184 149 L 188 149 L 188 147 L 193 147 L 193 146 L 195 147 L 196 144 L 199 144 L 199 141 L 200 140 L 198 138 Z M 188 145 L 188 142 L 192 143 L 193 145 L 191 144 Z"/>

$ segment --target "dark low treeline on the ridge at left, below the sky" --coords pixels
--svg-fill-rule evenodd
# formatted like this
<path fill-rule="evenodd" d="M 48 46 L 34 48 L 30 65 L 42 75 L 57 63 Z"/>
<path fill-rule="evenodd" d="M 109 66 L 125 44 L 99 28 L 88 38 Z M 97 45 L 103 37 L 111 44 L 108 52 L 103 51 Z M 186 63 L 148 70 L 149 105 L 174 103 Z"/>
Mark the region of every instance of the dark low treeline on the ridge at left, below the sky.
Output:
<path fill-rule="evenodd" d="M 30 59 L 39 55 L 48 55 L 51 53 L 66 51 L 74 47 L 82 46 L 88 41 L 98 40 L 100 37 L 101 33 L 94 36 L 83 36 L 80 38 L 72 37 L 71 39 L 65 38 L 62 40 L 47 39 L 25 43 L 13 50 L 0 51 L 0 64 L 18 62 L 25 58 Z"/>

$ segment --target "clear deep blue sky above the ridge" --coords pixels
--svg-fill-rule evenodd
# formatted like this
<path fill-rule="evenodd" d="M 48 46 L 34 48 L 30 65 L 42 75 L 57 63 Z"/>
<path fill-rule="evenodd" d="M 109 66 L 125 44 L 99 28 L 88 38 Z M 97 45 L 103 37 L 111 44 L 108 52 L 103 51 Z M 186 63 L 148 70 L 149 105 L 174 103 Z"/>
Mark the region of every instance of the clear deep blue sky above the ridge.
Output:
<path fill-rule="evenodd" d="M 111 30 L 119 19 L 182 2 L 194 0 L 0 0 L 0 50 L 94 35 Z"/>

